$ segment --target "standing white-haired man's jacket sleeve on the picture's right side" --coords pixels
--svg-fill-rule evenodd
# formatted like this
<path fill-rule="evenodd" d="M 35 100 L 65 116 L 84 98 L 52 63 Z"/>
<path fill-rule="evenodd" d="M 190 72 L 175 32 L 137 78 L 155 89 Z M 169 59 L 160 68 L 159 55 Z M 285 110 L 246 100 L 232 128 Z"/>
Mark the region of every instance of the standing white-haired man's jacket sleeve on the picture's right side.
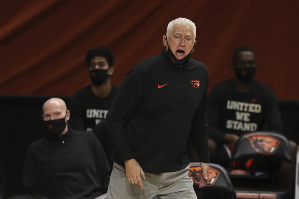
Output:
<path fill-rule="evenodd" d="M 206 78 L 206 81 L 208 82 L 208 77 Z M 208 83 L 201 103 L 193 117 L 190 132 L 196 155 L 199 157 L 200 161 L 204 163 L 210 162 L 208 122 L 206 115 L 207 87 Z"/>

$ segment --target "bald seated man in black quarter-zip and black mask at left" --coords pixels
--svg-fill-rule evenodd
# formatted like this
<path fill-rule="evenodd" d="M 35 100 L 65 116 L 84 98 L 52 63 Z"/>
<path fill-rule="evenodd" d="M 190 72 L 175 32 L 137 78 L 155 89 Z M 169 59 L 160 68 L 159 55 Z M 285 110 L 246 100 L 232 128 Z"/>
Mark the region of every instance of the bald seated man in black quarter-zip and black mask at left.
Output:
<path fill-rule="evenodd" d="M 107 192 L 110 169 L 104 150 L 92 132 L 73 131 L 62 99 L 43 105 L 47 133 L 27 150 L 25 191 L 39 198 L 93 199 Z"/>

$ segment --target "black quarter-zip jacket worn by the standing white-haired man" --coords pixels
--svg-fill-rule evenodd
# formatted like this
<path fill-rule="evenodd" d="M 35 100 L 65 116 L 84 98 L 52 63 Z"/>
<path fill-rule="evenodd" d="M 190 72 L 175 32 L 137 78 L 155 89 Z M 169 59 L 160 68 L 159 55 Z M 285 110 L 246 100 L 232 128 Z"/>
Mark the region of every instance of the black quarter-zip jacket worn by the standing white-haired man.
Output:
<path fill-rule="evenodd" d="M 191 133 L 202 162 L 209 162 L 206 117 L 208 72 L 190 59 L 173 65 L 164 51 L 137 64 L 124 78 L 106 116 L 113 140 L 112 160 L 135 158 L 144 172 L 159 174 L 189 164 Z"/>

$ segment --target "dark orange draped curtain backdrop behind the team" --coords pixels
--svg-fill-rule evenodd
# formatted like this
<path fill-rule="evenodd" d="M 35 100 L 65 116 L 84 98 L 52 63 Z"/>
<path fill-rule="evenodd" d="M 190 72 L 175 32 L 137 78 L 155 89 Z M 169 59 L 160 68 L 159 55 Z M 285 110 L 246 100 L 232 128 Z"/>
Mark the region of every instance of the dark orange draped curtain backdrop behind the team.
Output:
<path fill-rule="evenodd" d="M 192 58 L 209 71 L 209 90 L 234 76 L 234 49 L 257 54 L 255 79 L 278 99 L 299 99 L 299 1 L 84 1 L 0 2 L 0 94 L 72 95 L 90 84 L 85 53 L 107 45 L 115 53 L 112 83 L 141 60 L 162 52 L 169 21 L 197 26 Z"/>

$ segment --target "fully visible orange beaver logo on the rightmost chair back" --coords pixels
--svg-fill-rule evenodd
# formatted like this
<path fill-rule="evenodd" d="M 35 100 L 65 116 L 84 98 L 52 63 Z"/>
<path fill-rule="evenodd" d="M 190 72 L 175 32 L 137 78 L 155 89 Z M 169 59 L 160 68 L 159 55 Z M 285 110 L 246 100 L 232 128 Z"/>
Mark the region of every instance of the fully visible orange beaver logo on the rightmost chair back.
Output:
<path fill-rule="evenodd" d="M 271 155 L 280 145 L 280 141 L 275 137 L 264 135 L 264 134 L 254 134 L 246 136 L 249 139 L 251 146 L 258 153 L 263 155 Z"/>

